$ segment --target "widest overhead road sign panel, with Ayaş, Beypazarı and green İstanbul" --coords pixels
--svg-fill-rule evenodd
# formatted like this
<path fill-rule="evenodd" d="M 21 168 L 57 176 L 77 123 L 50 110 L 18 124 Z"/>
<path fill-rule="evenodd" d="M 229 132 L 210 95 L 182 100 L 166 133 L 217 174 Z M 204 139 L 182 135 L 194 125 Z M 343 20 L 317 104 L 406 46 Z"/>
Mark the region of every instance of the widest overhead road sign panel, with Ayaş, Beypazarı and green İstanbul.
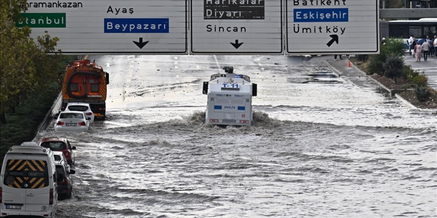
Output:
<path fill-rule="evenodd" d="M 64 54 L 188 54 L 188 0 L 33 0 L 18 27 Z"/>

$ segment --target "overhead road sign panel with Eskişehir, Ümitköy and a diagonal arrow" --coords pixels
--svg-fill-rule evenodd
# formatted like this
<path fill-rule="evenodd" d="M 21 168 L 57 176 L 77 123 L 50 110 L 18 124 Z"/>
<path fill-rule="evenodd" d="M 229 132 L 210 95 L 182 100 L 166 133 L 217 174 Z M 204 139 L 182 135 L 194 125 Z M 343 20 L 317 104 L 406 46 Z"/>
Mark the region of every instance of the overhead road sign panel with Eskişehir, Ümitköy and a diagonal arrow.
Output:
<path fill-rule="evenodd" d="M 379 54 L 378 0 L 286 0 L 286 54 Z"/>

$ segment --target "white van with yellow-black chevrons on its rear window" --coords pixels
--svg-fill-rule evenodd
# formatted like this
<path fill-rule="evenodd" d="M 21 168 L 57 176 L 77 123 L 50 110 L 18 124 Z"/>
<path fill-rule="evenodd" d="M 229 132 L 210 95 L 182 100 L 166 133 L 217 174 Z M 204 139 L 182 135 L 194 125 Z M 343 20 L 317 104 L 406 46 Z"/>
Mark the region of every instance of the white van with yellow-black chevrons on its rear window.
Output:
<path fill-rule="evenodd" d="M 4 156 L 0 182 L 0 217 L 55 217 L 57 178 L 50 149 L 34 142 L 12 146 Z"/>

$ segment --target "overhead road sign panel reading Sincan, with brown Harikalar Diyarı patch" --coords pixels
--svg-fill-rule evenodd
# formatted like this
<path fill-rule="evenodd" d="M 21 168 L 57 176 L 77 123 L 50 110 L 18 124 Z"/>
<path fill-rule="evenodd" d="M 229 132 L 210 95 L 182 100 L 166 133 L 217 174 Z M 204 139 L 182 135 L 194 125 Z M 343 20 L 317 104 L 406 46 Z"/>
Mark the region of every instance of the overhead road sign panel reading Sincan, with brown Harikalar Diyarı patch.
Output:
<path fill-rule="evenodd" d="M 190 54 L 284 54 L 282 0 L 191 0 Z"/>

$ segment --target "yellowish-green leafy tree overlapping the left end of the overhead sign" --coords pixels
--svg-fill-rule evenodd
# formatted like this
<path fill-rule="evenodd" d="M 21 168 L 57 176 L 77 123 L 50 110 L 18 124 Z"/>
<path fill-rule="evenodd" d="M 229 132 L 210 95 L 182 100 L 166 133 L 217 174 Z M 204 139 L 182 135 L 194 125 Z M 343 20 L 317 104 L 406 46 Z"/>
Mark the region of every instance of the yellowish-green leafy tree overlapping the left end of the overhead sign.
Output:
<path fill-rule="evenodd" d="M 20 7 L 24 5 L 24 7 Z M 6 122 L 6 112 L 14 111 L 20 101 L 29 93 L 47 86 L 47 79 L 58 72 L 54 60 L 60 55 L 47 55 L 55 51 L 58 38 L 51 39 L 48 34 L 38 37 L 40 45 L 31 39 L 31 29 L 15 26 L 25 11 L 26 0 L 0 1 L 0 115 L 1 123 Z M 45 38 L 48 40 L 46 41 Z M 41 44 L 41 42 L 44 42 Z M 47 43 L 46 43 L 47 42 Z M 55 70 L 55 72 L 54 72 Z"/>

